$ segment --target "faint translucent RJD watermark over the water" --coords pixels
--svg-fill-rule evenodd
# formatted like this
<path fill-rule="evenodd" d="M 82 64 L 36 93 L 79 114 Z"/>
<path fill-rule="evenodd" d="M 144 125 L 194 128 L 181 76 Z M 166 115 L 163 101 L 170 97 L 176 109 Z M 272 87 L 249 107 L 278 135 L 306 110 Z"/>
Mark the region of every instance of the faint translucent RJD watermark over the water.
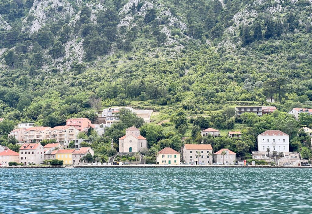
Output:
<path fill-rule="evenodd" d="M 135 204 L 145 206 L 177 206 L 178 197 L 176 196 L 135 196 Z"/>

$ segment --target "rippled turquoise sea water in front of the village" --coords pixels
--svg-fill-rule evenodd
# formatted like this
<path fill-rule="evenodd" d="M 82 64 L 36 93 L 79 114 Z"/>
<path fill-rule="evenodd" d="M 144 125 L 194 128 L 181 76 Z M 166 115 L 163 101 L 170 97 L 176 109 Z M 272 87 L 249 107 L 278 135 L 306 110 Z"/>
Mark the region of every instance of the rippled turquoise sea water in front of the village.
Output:
<path fill-rule="evenodd" d="M 0 213 L 312 213 L 311 169 L 0 169 Z"/>

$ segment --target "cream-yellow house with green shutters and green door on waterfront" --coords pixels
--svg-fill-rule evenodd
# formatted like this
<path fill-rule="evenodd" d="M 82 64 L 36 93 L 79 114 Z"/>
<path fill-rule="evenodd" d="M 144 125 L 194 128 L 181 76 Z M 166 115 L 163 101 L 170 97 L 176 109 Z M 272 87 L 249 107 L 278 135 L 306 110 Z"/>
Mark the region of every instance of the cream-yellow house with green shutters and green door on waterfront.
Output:
<path fill-rule="evenodd" d="M 159 165 L 179 165 L 180 153 L 170 147 L 166 147 L 157 153 L 156 162 Z"/>

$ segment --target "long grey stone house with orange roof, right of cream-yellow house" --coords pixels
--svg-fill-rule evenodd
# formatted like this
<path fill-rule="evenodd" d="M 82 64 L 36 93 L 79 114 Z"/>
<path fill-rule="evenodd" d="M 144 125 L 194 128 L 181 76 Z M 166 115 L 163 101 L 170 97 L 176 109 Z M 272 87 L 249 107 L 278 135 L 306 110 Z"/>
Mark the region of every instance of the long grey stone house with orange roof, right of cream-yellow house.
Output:
<path fill-rule="evenodd" d="M 182 158 L 188 165 L 212 164 L 212 147 L 210 144 L 184 144 Z"/>

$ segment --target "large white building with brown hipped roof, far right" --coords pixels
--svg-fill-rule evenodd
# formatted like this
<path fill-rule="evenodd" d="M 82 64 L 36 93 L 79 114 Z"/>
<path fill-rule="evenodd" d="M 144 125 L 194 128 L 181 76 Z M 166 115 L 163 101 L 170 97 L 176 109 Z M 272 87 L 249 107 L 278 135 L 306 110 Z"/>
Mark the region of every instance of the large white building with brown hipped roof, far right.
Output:
<path fill-rule="evenodd" d="M 266 152 L 289 152 L 289 136 L 279 130 L 267 130 L 258 135 L 258 151 Z"/>

